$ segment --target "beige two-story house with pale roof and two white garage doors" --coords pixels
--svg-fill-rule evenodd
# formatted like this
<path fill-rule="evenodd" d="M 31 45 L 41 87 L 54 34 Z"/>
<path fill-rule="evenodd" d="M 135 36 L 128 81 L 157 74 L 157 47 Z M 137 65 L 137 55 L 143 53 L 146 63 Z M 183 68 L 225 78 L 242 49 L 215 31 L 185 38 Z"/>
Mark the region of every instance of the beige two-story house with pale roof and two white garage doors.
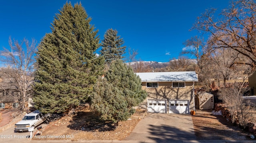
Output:
<path fill-rule="evenodd" d="M 148 112 L 190 114 L 195 110 L 194 84 L 198 77 L 194 71 L 184 72 L 137 72 L 142 89 L 148 97 L 136 109 Z"/>

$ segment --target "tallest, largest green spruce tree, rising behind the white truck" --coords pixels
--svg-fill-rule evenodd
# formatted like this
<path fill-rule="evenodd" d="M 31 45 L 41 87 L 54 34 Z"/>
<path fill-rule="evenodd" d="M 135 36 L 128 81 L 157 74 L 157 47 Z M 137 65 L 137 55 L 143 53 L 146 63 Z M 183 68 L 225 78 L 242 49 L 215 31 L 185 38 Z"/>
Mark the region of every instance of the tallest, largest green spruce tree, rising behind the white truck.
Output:
<path fill-rule="evenodd" d="M 64 4 L 43 37 L 36 54 L 35 107 L 60 113 L 88 99 L 102 74 L 104 59 L 96 57 L 99 38 L 81 4 Z"/>

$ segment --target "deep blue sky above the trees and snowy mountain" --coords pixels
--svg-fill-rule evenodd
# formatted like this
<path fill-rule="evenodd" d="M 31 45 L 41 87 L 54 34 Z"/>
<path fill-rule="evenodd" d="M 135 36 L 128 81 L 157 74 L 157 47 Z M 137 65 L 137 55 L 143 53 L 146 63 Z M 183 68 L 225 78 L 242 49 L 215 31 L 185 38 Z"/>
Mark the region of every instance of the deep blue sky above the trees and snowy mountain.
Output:
<path fill-rule="evenodd" d="M 0 50 L 8 39 L 24 37 L 40 43 L 51 32 L 55 14 L 67 0 L 0 0 Z M 68 1 L 69 2 L 69 1 Z M 116 29 L 127 47 L 138 50 L 140 61 L 168 62 L 178 58 L 182 44 L 198 31 L 189 31 L 196 17 L 208 8 L 221 10 L 228 0 L 71 0 L 81 2 L 103 39 Z M 190 58 L 190 57 L 189 57 Z M 192 57 L 193 58 L 193 57 Z"/>

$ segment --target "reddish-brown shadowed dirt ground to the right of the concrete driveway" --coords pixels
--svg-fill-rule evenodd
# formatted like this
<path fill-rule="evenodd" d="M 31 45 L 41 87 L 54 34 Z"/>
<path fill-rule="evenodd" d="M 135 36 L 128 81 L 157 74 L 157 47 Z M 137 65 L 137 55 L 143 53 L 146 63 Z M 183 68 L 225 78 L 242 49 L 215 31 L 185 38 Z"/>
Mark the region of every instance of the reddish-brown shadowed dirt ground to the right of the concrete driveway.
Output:
<path fill-rule="evenodd" d="M 250 133 L 209 111 L 196 113 L 192 120 L 197 140 L 251 140 Z"/>

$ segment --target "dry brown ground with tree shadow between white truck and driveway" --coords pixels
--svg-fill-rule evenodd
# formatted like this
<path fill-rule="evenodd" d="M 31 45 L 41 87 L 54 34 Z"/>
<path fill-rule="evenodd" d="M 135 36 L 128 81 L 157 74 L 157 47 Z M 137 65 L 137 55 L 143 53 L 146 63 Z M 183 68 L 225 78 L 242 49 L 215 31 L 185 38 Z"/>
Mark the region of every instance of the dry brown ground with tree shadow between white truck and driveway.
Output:
<path fill-rule="evenodd" d="M 134 115 L 140 117 L 141 112 Z M 44 129 L 42 135 L 70 135 L 71 140 L 122 140 L 127 137 L 140 119 L 120 121 L 119 126 L 114 129 L 114 124 L 108 121 L 99 121 L 90 109 L 83 109 L 73 116 L 63 116 L 52 121 Z M 39 139 L 35 139 L 39 140 Z M 50 140 L 49 138 L 40 140 Z"/>

